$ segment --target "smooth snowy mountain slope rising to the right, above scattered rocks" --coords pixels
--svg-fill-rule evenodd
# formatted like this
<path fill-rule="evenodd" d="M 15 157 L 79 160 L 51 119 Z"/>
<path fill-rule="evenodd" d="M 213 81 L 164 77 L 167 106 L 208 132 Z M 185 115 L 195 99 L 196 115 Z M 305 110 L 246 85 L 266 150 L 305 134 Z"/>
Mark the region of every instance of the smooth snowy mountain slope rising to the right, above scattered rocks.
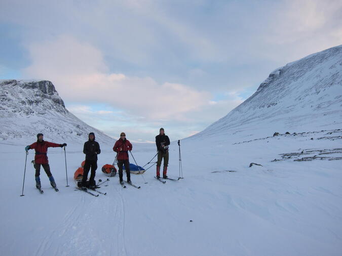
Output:
<path fill-rule="evenodd" d="M 274 70 L 257 91 L 192 138 L 334 130 L 342 126 L 342 45 Z"/>

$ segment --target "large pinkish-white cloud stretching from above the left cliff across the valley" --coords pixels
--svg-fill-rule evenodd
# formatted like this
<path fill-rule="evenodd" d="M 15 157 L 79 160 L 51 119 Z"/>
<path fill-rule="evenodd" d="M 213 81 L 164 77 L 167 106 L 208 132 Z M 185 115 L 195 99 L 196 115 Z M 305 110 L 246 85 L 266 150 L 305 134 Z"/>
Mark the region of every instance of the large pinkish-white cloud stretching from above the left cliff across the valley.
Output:
<path fill-rule="evenodd" d="M 61 96 L 73 102 L 101 102 L 147 120 L 182 118 L 207 105 L 211 95 L 179 83 L 158 84 L 151 77 L 109 73 L 99 50 L 72 36 L 29 46 L 26 76 L 49 77 Z M 72 91 L 72 93 L 70 93 Z"/>

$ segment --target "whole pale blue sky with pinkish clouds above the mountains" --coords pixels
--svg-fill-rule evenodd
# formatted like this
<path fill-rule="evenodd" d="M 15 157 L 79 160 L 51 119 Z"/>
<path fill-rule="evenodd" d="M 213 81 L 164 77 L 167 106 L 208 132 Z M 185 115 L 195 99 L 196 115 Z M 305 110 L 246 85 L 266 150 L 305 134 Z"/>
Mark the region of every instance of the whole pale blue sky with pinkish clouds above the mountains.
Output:
<path fill-rule="evenodd" d="M 50 80 L 134 141 L 200 132 L 274 69 L 341 44 L 340 0 L 0 0 L 0 79 Z"/>

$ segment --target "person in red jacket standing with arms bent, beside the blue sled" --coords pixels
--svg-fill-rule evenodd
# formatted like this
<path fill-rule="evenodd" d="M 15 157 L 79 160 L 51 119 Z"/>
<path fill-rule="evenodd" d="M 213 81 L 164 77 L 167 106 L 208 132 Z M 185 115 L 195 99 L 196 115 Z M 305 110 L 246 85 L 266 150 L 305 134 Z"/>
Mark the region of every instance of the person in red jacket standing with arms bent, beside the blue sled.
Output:
<path fill-rule="evenodd" d="M 125 133 L 120 134 L 120 139 L 117 140 L 117 142 L 115 143 L 113 150 L 118 153 L 117 159 L 118 159 L 120 183 L 124 184 L 123 170 L 122 170 L 122 167 L 124 164 L 125 164 L 125 169 L 126 169 L 127 182 L 131 183 L 131 173 L 130 173 L 130 168 L 129 168 L 128 151 L 132 150 L 132 144 L 129 142 L 129 140 L 126 139 Z"/>

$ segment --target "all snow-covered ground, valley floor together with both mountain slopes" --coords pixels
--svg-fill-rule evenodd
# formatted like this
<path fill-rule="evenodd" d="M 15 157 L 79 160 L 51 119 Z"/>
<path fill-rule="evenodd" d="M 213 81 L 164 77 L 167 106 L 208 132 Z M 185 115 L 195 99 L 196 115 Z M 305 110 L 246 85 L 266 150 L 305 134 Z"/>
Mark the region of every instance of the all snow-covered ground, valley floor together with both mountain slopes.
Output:
<path fill-rule="evenodd" d="M 112 177 L 98 197 L 74 191 L 73 173 L 88 133 L 100 132 L 69 113 L 48 81 L 3 81 L 1 254 L 341 255 L 341 67 L 339 46 L 275 70 L 240 106 L 180 141 L 184 179 L 163 184 L 153 166 L 131 175 L 140 189 Z M 50 148 L 59 192 L 41 170 L 40 194 L 30 150 L 20 196 L 24 147 L 40 132 L 68 144 L 70 186 L 63 149 Z M 96 180 L 105 180 L 114 141 L 96 138 Z M 179 176 L 178 139 L 170 136 L 171 178 Z M 156 145 L 133 143 L 132 153 L 142 166 Z"/>

